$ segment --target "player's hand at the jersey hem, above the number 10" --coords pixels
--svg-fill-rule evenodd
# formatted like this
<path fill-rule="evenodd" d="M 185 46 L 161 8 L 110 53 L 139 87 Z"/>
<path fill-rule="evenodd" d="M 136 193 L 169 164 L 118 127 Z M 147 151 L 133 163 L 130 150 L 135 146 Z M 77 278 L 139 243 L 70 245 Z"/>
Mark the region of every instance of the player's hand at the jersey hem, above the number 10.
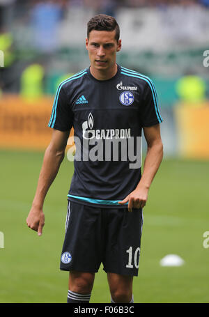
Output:
<path fill-rule="evenodd" d="M 146 206 L 146 201 L 148 199 L 148 189 L 139 188 L 131 192 L 129 195 L 123 199 L 123 201 L 118 201 L 121 205 L 128 202 L 127 209 L 132 212 L 132 208 L 144 208 Z"/>

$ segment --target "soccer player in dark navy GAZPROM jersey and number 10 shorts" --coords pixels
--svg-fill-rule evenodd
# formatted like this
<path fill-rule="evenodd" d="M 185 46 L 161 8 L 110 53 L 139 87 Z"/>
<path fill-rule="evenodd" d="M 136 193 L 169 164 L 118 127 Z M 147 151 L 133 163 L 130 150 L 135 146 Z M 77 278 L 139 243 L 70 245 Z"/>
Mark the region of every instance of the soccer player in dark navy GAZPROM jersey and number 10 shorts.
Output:
<path fill-rule="evenodd" d="M 75 172 L 68 192 L 61 270 L 69 271 L 68 302 L 89 302 L 103 263 L 111 302 L 133 302 L 143 225 L 142 208 L 160 167 L 162 117 L 153 82 L 116 63 L 119 26 L 107 15 L 88 22 L 90 67 L 59 85 L 53 128 L 27 225 L 42 234 L 42 206 L 59 171 L 71 127 Z M 141 130 L 148 145 L 141 175 Z"/>

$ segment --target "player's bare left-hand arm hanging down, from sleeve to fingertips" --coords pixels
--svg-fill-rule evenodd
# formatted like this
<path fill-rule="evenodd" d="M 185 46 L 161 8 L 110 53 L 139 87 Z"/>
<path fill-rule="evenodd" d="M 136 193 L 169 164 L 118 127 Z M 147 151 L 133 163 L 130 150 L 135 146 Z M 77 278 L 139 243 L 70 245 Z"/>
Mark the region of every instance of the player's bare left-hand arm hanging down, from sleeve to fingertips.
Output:
<path fill-rule="evenodd" d="M 26 224 L 32 230 L 38 231 L 42 235 L 42 228 L 45 224 L 45 215 L 42 211 L 45 196 L 52 185 L 59 167 L 65 156 L 65 147 L 68 142 L 70 131 L 59 131 L 53 129 L 52 139 L 45 150 L 45 155 L 38 178 L 36 194 L 33 199 L 31 210 L 26 219 Z"/>

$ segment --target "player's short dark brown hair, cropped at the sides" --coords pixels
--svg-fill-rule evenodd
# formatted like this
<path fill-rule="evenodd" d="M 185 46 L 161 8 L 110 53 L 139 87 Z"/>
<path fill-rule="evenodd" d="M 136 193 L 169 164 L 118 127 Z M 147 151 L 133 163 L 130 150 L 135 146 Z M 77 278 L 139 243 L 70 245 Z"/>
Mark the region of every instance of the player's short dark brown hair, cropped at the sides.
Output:
<path fill-rule="evenodd" d="M 89 33 L 93 30 L 96 31 L 116 31 L 116 41 L 120 38 L 120 28 L 114 17 L 110 15 L 95 15 L 87 24 L 87 38 Z"/>

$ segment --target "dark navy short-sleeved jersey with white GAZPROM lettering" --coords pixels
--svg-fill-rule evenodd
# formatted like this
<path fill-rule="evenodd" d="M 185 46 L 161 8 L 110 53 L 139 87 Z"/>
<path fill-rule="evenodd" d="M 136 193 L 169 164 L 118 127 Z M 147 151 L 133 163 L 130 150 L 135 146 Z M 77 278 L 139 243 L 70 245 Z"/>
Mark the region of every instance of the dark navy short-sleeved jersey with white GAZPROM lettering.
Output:
<path fill-rule="evenodd" d="M 59 85 L 49 127 L 74 127 L 75 171 L 68 199 L 119 205 L 141 178 L 142 127 L 162 122 L 152 80 L 118 65 L 114 77 L 95 79 L 86 68 Z"/>

